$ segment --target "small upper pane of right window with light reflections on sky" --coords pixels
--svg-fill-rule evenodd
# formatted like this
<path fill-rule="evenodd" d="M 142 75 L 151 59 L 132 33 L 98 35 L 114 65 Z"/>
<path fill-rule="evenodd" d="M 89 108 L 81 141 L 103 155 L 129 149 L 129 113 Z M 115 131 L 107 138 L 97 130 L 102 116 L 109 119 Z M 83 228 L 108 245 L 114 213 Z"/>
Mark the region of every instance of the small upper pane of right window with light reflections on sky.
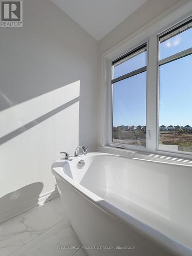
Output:
<path fill-rule="evenodd" d="M 170 37 L 170 36 L 169 36 Z M 173 37 L 163 41 L 160 39 L 159 46 L 159 59 L 172 56 L 181 51 L 187 50 L 192 47 L 192 28 L 189 28 L 183 32 L 179 32 Z M 161 42 L 162 40 L 162 42 Z"/>

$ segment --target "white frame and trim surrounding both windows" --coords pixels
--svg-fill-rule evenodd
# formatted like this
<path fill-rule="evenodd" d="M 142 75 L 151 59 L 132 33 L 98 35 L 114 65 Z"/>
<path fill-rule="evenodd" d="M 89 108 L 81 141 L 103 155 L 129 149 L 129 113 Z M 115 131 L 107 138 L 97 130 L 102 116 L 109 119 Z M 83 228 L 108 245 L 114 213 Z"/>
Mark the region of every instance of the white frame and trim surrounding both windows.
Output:
<path fill-rule="evenodd" d="M 146 86 L 146 147 L 124 145 L 127 154 L 131 152 L 156 153 L 168 156 L 192 159 L 192 153 L 170 152 L 158 149 L 159 136 L 159 35 L 191 19 L 192 2 L 185 3 L 179 9 L 167 10 L 147 24 L 123 39 L 119 44 L 104 52 L 101 56 L 100 113 L 99 113 L 99 145 L 105 148 L 117 148 L 111 143 L 112 130 L 112 85 L 111 63 L 127 52 L 147 43 L 147 86 Z M 126 153 L 124 153 L 126 154 Z"/>

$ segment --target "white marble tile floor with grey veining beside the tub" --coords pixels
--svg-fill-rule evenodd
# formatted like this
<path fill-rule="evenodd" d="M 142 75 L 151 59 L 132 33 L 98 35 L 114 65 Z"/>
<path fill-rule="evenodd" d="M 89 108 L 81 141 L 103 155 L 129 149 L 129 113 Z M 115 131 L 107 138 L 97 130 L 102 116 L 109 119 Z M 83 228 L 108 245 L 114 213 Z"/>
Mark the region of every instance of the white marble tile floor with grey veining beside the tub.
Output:
<path fill-rule="evenodd" d="M 59 197 L 0 225 L 1 256 L 87 256 L 79 246 Z"/>

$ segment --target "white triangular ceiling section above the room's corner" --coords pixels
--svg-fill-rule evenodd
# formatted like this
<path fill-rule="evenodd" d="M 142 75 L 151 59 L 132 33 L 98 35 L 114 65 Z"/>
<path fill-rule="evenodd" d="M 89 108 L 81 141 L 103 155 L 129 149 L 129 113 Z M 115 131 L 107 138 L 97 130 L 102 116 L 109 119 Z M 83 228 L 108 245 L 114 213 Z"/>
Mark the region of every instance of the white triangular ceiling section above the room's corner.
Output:
<path fill-rule="evenodd" d="M 51 0 L 100 40 L 147 0 Z"/>

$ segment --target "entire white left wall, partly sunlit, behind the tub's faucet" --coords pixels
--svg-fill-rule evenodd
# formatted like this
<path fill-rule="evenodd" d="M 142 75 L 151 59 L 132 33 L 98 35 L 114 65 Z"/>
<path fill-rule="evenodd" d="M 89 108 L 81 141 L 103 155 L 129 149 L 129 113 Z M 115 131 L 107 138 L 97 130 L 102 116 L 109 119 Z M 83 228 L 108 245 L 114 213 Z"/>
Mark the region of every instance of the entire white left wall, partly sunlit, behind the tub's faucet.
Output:
<path fill-rule="evenodd" d="M 0 221 L 55 189 L 52 162 L 94 150 L 98 42 L 48 0 L 0 29 Z"/>

